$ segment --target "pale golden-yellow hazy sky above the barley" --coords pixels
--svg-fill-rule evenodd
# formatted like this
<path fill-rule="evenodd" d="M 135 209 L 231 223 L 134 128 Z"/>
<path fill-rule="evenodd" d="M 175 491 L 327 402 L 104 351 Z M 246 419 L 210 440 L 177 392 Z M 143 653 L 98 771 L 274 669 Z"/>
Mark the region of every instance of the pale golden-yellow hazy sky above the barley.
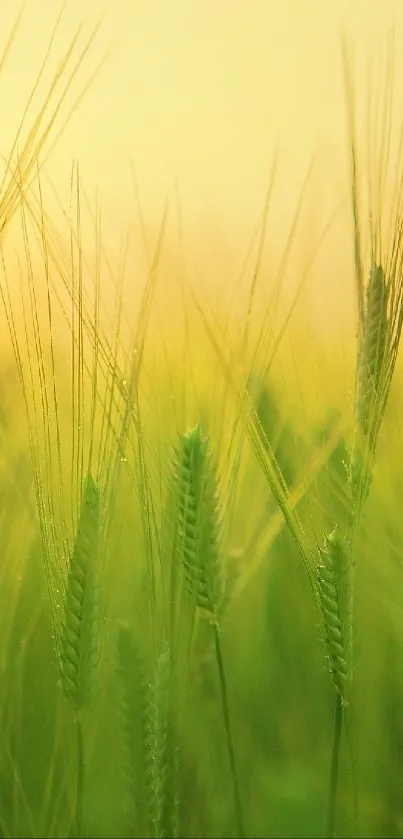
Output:
<path fill-rule="evenodd" d="M 0 9 L 4 41 L 17 12 Z M 8 146 L 58 14 L 55 0 L 27 0 L 0 79 L 2 153 Z M 286 228 L 309 160 L 319 153 L 306 225 L 344 193 L 345 108 L 340 34 L 358 56 L 392 26 L 402 45 L 402 0 L 67 0 L 51 65 L 77 25 L 101 20 L 86 73 L 100 75 L 47 164 L 67 201 L 72 159 L 98 186 L 111 230 L 134 212 L 134 166 L 147 219 L 178 185 L 184 227 L 200 247 L 220 240 L 236 259 L 261 212 L 275 149 L 274 229 Z M 400 40 L 399 40 L 400 39 Z M 396 50 L 399 56 L 399 48 Z M 52 63 L 53 62 L 53 63 Z M 50 78 L 50 71 L 47 78 Z M 359 72 L 357 83 L 359 85 Z M 399 92 L 399 91 L 398 91 Z M 319 213 L 320 215 L 320 213 Z"/>

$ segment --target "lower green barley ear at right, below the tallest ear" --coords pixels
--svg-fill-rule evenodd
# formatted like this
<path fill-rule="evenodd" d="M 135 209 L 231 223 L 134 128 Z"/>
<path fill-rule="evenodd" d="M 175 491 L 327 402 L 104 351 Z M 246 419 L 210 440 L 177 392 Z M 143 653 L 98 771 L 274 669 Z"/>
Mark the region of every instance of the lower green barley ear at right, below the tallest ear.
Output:
<path fill-rule="evenodd" d="M 325 625 L 325 642 L 333 683 L 345 699 L 352 671 L 353 569 L 348 546 L 333 531 L 325 537 L 318 584 Z"/>

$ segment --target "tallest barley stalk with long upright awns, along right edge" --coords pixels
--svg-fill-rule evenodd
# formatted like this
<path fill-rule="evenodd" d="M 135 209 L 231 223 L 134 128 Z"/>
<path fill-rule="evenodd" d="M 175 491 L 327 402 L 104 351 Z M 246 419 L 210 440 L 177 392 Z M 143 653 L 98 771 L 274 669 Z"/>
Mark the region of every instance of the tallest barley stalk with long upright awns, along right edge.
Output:
<path fill-rule="evenodd" d="M 351 86 L 349 55 L 346 41 L 343 41 L 342 48 L 346 86 L 350 152 L 350 195 L 358 306 L 354 432 L 348 470 L 349 512 L 345 539 L 345 545 L 348 545 L 348 552 L 350 553 L 350 573 L 351 577 L 353 577 L 355 574 L 361 518 L 370 489 L 377 441 L 395 370 L 403 325 L 403 161 L 400 156 L 397 162 L 392 161 L 393 178 L 397 186 L 393 194 L 391 215 L 387 221 L 387 234 L 384 235 L 384 195 L 386 177 L 390 166 L 390 137 L 388 136 L 387 125 L 391 118 L 390 107 L 393 97 L 391 97 L 387 82 L 386 90 L 383 91 L 383 105 L 385 110 L 381 116 L 382 123 L 377 124 L 377 117 L 376 122 L 371 125 L 370 113 L 368 114 L 368 128 L 370 132 L 374 132 L 375 144 L 373 148 L 370 148 L 371 159 L 368 161 L 369 219 L 364 219 L 361 213 L 358 191 L 358 156 L 354 95 Z M 388 80 L 390 83 L 390 76 Z M 401 151 L 399 155 L 401 155 Z M 375 172 L 373 171 L 373 166 L 375 166 Z M 362 234 L 367 222 L 369 222 L 371 267 L 365 290 Z M 351 611 L 352 608 L 353 603 L 351 604 Z M 333 808 L 333 814 L 329 813 L 329 831 L 334 829 L 343 699 L 343 693 L 338 690 L 331 778 L 331 786 L 334 784 L 334 790 L 332 793 L 331 789 L 331 801 L 329 805 L 330 809 Z"/>

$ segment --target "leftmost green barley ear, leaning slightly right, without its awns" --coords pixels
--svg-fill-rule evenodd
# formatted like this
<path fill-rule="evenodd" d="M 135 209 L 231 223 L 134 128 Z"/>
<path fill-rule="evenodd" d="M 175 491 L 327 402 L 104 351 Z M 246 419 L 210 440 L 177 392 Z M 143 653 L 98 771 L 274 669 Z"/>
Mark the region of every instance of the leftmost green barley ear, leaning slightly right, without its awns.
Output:
<path fill-rule="evenodd" d="M 61 629 L 61 687 L 76 709 L 94 696 L 99 663 L 100 491 L 84 482 Z"/>

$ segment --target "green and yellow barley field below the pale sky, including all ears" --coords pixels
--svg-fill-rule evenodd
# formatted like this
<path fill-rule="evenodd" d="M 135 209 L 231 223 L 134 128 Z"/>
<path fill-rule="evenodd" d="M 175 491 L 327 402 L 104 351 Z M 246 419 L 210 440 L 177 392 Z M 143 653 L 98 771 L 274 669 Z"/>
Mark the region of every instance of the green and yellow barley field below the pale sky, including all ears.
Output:
<path fill-rule="evenodd" d="M 403 834 L 402 159 L 386 87 L 360 179 L 351 90 L 343 358 L 281 305 L 265 213 L 243 296 L 161 288 L 164 217 L 134 304 L 77 167 L 67 234 L 46 212 L 46 101 L 10 155 L 4 837 Z"/>

